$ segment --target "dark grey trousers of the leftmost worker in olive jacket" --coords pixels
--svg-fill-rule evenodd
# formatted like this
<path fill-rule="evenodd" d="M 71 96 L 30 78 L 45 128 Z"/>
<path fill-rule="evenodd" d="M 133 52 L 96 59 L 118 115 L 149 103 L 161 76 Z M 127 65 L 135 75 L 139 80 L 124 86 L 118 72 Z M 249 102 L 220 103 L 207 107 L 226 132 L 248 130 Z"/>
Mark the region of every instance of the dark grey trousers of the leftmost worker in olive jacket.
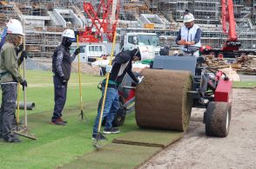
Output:
<path fill-rule="evenodd" d="M 0 134 L 3 139 L 12 137 L 11 129 L 16 111 L 17 83 L 1 84 Z"/>

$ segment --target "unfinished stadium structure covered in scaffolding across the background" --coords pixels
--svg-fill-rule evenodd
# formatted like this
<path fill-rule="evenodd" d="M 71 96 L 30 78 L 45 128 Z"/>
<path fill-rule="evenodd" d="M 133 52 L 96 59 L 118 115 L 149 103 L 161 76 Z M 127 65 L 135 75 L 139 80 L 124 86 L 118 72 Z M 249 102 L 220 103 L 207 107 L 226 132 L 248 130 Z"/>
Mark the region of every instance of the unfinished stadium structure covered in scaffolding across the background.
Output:
<path fill-rule="evenodd" d="M 24 23 L 26 49 L 32 56 L 50 57 L 64 29 L 84 31 L 91 24 L 81 0 L 0 1 L 0 31 L 10 18 Z M 85 1 L 86 2 L 86 1 Z M 100 0 L 87 0 L 95 7 Z M 256 49 L 256 0 L 234 0 L 234 15 L 243 49 Z M 177 49 L 175 38 L 186 9 L 203 29 L 202 44 L 221 48 L 226 35 L 221 26 L 220 0 L 120 0 L 118 30 L 154 32 L 162 45 Z M 100 14 L 98 14 L 100 15 Z M 151 25 L 149 27 L 149 25 Z"/>

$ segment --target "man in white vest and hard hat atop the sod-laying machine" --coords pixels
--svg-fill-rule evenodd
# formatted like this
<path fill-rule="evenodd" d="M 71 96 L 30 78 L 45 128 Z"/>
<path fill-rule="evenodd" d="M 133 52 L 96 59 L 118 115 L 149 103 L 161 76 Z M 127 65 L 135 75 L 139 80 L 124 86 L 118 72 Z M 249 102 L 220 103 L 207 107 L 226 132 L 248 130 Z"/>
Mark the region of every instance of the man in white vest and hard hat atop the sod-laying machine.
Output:
<path fill-rule="evenodd" d="M 176 43 L 181 45 L 183 55 L 199 56 L 199 48 L 201 47 L 202 30 L 198 25 L 194 24 L 194 16 L 185 11 L 184 26 L 179 29 L 179 34 L 176 38 Z"/>

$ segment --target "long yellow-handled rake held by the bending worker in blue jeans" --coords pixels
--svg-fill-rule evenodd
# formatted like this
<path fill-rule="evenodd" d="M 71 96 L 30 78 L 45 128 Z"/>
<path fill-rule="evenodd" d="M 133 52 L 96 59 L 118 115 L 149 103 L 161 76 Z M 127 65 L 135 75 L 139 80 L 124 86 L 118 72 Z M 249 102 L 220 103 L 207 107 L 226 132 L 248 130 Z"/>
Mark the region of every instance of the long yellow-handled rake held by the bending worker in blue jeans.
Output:
<path fill-rule="evenodd" d="M 111 66 L 112 63 L 112 57 L 114 55 L 114 49 L 115 49 L 115 44 L 116 44 L 116 36 L 117 36 L 117 32 L 115 31 L 114 33 L 114 39 L 113 39 L 113 44 L 112 44 L 112 49 L 111 49 L 111 60 L 109 65 Z M 102 148 L 104 146 L 104 142 L 102 140 L 100 140 L 100 128 L 101 128 L 101 123 L 102 123 L 102 116 L 103 116 L 103 112 L 104 112 L 104 101 L 105 101 L 105 97 L 106 97 L 106 93 L 107 93 L 107 89 L 108 89 L 108 84 L 109 84 L 109 79 L 110 79 L 110 73 L 107 73 L 107 77 L 106 77 L 106 82 L 105 82 L 105 86 L 104 86 L 104 96 L 103 96 L 103 101 L 102 101 L 102 105 L 101 105 L 101 112 L 100 112 L 100 117 L 99 117 L 99 121 L 98 121 L 98 134 L 96 136 L 96 139 L 93 141 L 93 146 L 96 146 L 98 149 Z"/>

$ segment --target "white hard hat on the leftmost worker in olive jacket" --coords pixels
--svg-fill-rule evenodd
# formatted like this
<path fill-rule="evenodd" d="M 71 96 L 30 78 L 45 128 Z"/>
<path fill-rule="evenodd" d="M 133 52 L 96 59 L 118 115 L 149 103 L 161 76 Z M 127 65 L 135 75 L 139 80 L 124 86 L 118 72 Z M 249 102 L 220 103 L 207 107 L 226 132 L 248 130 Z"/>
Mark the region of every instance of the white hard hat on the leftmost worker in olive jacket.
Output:
<path fill-rule="evenodd" d="M 17 19 L 10 19 L 6 26 L 8 34 L 17 34 L 24 36 L 23 26 Z"/>

